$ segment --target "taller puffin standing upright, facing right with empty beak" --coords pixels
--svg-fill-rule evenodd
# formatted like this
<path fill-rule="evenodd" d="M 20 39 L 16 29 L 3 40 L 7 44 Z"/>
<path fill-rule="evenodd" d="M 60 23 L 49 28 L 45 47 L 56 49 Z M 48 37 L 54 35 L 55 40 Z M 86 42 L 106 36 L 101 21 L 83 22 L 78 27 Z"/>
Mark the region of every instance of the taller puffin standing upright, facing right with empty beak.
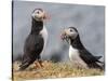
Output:
<path fill-rule="evenodd" d="M 44 51 L 48 31 L 43 22 L 48 18 L 45 11 L 42 9 L 35 9 L 31 13 L 31 30 L 25 40 L 24 54 L 19 70 L 25 70 L 35 60 L 42 67 L 41 54 Z"/>

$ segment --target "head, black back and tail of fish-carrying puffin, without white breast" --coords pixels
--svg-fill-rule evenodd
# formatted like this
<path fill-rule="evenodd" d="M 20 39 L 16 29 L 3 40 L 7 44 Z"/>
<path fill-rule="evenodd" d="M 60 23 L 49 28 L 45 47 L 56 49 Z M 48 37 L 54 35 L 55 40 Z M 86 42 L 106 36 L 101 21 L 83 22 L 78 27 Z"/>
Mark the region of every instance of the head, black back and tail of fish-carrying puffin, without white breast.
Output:
<path fill-rule="evenodd" d="M 75 37 L 76 36 L 76 37 Z M 69 27 L 62 33 L 62 39 L 65 39 L 69 44 L 79 52 L 79 57 L 87 65 L 89 68 L 104 69 L 104 63 L 99 60 L 102 56 L 92 55 L 82 44 L 78 30 L 75 27 Z M 99 65 L 100 64 L 100 65 Z"/>

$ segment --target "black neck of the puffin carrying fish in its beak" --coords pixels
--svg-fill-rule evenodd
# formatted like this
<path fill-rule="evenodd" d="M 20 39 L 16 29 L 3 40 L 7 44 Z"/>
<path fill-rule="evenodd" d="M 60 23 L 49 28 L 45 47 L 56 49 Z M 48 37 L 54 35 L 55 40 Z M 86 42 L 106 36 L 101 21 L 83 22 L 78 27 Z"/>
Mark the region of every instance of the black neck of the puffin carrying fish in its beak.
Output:
<path fill-rule="evenodd" d="M 70 38 L 70 44 L 75 48 L 75 49 L 84 49 L 83 44 L 80 41 L 80 37 L 78 36 L 75 40 L 71 40 Z"/>

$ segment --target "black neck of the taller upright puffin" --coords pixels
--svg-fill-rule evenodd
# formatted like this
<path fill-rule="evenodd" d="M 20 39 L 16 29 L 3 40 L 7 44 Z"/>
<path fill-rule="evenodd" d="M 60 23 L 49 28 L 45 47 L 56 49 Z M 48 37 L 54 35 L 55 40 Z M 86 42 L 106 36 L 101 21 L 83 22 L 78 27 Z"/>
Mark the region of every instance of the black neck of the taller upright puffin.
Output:
<path fill-rule="evenodd" d="M 31 33 L 39 33 L 43 29 L 43 22 L 36 21 L 32 18 Z"/>

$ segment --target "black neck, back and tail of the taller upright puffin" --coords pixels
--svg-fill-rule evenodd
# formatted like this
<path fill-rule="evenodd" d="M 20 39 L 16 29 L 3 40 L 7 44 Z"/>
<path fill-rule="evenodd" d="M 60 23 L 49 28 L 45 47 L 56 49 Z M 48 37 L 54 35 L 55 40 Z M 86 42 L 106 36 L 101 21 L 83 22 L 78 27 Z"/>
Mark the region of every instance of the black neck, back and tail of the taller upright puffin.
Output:
<path fill-rule="evenodd" d="M 44 44 L 42 36 L 39 35 L 42 28 L 43 22 L 38 22 L 32 18 L 31 31 L 25 41 L 24 55 L 19 70 L 26 69 L 36 59 L 40 59 L 40 53 Z"/>

